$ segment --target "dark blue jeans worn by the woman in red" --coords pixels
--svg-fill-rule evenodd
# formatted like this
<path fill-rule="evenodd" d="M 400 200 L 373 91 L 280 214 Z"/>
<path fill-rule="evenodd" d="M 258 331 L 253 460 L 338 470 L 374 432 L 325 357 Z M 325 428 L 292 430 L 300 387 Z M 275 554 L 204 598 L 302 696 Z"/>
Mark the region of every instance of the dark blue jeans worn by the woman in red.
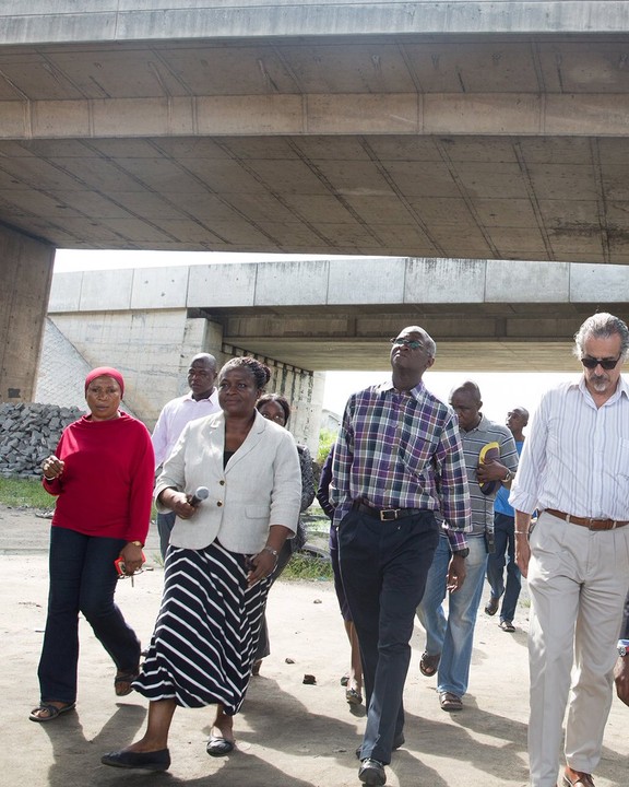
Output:
<path fill-rule="evenodd" d="M 76 700 L 79 612 L 119 670 L 138 669 L 140 642 L 114 603 L 114 561 L 126 543 L 50 528 L 48 618 L 37 672 L 41 702 Z"/>

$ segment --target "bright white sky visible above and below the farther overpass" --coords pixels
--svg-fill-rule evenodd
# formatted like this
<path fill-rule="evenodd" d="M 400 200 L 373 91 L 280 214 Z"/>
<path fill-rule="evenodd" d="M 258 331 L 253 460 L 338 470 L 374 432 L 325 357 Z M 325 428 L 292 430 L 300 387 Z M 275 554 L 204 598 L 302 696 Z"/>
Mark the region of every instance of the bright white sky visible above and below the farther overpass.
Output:
<path fill-rule="evenodd" d="M 58 249 L 55 271 L 104 270 L 114 268 L 161 268 L 179 265 L 207 265 L 209 262 L 257 262 L 260 259 L 329 259 L 324 255 L 260 255 L 221 254 L 204 251 L 83 251 Z M 437 365 L 439 356 L 437 356 Z M 443 401 L 452 388 L 473 379 L 480 388 L 483 412 L 498 423 L 505 423 L 507 413 L 514 407 L 523 407 L 534 413 L 542 395 L 549 388 L 577 374 L 542 373 L 459 373 L 429 371 L 424 377 L 427 388 Z M 323 407 L 341 414 L 347 397 L 387 378 L 385 372 L 328 372 L 323 393 Z"/>

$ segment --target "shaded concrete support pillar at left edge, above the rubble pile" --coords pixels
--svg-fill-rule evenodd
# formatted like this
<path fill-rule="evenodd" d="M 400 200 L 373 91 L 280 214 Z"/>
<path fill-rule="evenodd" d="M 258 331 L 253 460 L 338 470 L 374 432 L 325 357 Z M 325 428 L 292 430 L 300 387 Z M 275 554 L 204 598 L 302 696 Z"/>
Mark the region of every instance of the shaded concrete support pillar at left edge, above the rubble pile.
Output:
<path fill-rule="evenodd" d="M 0 227 L 0 401 L 33 401 L 55 247 Z"/>

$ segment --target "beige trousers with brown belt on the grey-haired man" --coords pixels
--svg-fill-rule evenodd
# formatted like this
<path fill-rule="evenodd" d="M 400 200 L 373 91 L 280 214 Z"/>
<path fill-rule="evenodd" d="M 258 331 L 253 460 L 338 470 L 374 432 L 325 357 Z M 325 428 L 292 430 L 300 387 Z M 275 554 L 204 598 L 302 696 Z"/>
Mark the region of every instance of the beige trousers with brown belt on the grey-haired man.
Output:
<path fill-rule="evenodd" d="M 567 764 L 598 765 L 628 587 L 629 526 L 593 531 L 541 515 L 529 565 L 532 787 L 557 784 L 567 705 Z"/>

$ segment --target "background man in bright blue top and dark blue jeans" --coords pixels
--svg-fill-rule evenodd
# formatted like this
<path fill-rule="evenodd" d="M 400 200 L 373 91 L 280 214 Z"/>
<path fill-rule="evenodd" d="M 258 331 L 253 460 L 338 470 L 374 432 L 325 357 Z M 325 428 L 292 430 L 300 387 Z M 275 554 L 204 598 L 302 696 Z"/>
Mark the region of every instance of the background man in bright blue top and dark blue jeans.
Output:
<path fill-rule="evenodd" d="M 509 427 L 518 456 L 522 454 L 524 435 L 522 430 L 529 423 L 529 411 L 524 408 L 513 408 L 507 413 Z M 494 540 L 495 551 L 487 557 L 487 582 L 490 587 L 489 601 L 485 604 L 485 612 L 495 615 L 498 612 L 500 598 L 500 629 L 505 632 L 514 632 L 513 619 L 515 607 L 520 598 L 522 586 L 520 568 L 515 563 L 515 512 L 509 505 L 509 489 L 500 486 L 494 501 Z M 505 585 L 505 564 L 507 564 L 507 585 Z"/>

